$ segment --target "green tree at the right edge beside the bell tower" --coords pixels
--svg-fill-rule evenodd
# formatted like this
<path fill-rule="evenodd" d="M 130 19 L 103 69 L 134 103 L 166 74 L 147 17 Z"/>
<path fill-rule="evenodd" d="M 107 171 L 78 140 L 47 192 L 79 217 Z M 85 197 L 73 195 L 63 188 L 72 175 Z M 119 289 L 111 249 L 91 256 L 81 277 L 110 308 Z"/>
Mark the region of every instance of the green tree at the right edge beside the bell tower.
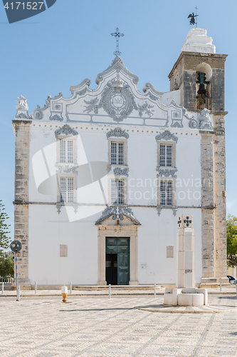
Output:
<path fill-rule="evenodd" d="M 227 263 L 237 266 L 237 217 L 228 214 L 226 221 Z"/>

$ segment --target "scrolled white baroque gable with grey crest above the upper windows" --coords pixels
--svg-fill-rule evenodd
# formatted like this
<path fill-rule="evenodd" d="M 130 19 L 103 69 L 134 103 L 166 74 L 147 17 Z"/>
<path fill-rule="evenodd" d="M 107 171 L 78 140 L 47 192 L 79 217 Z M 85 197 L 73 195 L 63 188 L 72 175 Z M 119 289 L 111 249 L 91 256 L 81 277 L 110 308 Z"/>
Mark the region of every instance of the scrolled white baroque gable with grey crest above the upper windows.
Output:
<path fill-rule="evenodd" d="M 90 89 L 90 79 L 85 79 L 78 86 L 70 86 L 70 98 L 64 98 L 61 93 L 53 98 L 48 96 L 43 108 L 37 106 L 32 112 L 31 119 L 60 121 L 62 124 L 121 123 L 157 129 L 211 129 L 211 115 L 207 122 L 203 117 L 197 118 L 196 113 L 189 114 L 172 99 L 178 98 L 177 93 L 169 92 L 167 96 L 156 91 L 150 83 L 145 84 L 143 92 L 140 92 L 137 89 L 138 81 L 138 77 L 116 56 L 112 64 L 98 74 L 96 89 Z"/>

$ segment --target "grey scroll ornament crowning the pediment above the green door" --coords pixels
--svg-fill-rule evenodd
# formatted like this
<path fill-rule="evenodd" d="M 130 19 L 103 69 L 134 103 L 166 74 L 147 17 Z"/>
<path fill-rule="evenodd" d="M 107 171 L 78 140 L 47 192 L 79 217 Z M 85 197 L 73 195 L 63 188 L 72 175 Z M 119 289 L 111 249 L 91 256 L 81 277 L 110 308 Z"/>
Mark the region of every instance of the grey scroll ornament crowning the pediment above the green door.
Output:
<path fill-rule="evenodd" d="M 106 207 L 104 211 L 102 211 L 102 216 L 95 222 L 95 224 L 102 224 L 107 218 L 112 217 L 112 220 L 120 219 L 121 221 L 124 219 L 124 216 L 128 218 L 135 225 L 140 225 L 137 218 L 133 216 L 131 208 L 124 206 L 110 206 Z"/>

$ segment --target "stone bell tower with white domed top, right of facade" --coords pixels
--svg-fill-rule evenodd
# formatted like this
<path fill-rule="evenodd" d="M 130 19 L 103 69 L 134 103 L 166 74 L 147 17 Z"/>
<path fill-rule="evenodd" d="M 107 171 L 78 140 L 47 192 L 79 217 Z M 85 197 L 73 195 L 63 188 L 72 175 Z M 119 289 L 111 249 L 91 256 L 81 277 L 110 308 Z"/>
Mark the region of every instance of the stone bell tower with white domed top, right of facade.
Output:
<path fill-rule="evenodd" d="M 180 91 L 181 106 L 213 114 L 214 130 L 201 134 L 202 284 L 228 283 L 226 278 L 226 154 L 224 64 L 226 54 L 205 29 L 186 36 L 181 54 L 169 74 L 170 90 Z M 205 109 L 205 110 L 206 110 Z"/>

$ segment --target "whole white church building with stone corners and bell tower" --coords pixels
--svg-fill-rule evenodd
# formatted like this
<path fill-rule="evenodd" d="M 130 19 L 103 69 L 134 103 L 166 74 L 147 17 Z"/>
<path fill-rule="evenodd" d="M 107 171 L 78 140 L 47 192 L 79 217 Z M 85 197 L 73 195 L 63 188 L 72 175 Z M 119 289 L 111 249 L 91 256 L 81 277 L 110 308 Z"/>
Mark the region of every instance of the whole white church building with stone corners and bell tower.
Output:
<path fill-rule="evenodd" d="M 20 96 L 15 239 L 21 286 L 176 283 L 177 221 L 192 215 L 196 283 L 226 278 L 224 63 L 192 29 L 170 91 L 116 56 L 72 96 L 28 114 Z M 227 279 L 227 280 L 226 280 Z"/>

